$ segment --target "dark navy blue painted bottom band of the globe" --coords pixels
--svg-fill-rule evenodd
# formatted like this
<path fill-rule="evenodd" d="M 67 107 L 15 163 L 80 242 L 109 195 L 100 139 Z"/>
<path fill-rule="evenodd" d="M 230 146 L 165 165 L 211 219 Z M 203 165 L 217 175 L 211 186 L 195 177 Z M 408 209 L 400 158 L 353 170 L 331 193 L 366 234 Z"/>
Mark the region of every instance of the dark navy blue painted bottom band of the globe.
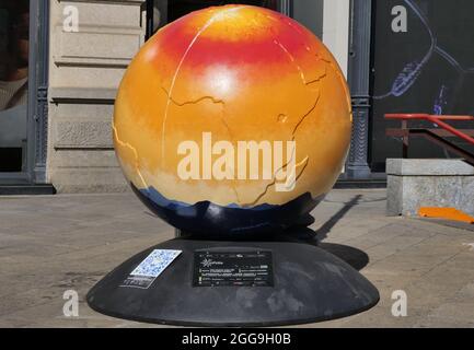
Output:
<path fill-rule="evenodd" d="M 307 192 L 285 205 L 261 205 L 242 208 L 236 205 L 219 206 L 210 201 L 188 205 L 169 200 L 154 188 L 131 188 L 138 198 L 159 218 L 189 234 L 205 237 L 235 237 L 278 234 L 301 222 L 324 196 L 313 198 Z"/>

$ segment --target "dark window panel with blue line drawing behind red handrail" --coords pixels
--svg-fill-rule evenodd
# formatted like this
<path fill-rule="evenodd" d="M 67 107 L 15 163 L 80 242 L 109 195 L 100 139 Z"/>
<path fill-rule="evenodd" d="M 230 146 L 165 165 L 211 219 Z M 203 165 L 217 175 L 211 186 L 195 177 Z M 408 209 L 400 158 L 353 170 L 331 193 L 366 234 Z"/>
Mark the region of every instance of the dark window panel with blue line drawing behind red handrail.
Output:
<path fill-rule="evenodd" d="M 406 10 L 406 31 L 398 22 L 404 20 L 403 8 L 395 7 Z M 383 172 L 386 158 L 402 155 L 401 140 L 385 136 L 385 128 L 400 121 L 384 120 L 385 113 L 474 115 L 474 1 L 377 1 L 372 72 L 370 163 L 372 171 Z M 472 122 L 455 126 L 474 128 Z M 473 151 L 467 143 L 458 144 Z M 415 139 L 409 156 L 451 158 L 429 141 Z"/>

